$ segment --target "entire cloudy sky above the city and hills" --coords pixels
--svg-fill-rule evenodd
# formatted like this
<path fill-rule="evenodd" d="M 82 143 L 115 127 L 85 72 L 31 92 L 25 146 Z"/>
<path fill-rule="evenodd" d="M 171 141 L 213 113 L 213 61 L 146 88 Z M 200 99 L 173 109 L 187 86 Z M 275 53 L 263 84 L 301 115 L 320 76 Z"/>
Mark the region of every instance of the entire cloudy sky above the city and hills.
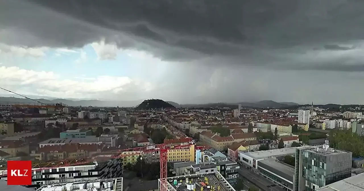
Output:
<path fill-rule="evenodd" d="M 0 87 L 66 99 L 364 104 L 364 2 L 141 2 L 2 1 Z"/>

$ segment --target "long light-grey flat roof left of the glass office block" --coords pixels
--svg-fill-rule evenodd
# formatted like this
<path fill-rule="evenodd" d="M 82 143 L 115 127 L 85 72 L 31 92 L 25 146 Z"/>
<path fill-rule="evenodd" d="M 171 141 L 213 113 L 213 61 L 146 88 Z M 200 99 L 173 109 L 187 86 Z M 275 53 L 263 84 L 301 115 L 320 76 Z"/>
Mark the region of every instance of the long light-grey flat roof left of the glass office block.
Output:
<path fill-rule="evenodd" d="M 266 150 L 266 151 L 255 151 L 255 152 L 242 152 L 239 151 L 240 154 L 250 156 L 253 159 L 266 159 L 271 156 L 280 156 L 280 155 L 292 155 L 296 152 L 296 147 L 291 148 L 280 148 L 274 150 Z"/>

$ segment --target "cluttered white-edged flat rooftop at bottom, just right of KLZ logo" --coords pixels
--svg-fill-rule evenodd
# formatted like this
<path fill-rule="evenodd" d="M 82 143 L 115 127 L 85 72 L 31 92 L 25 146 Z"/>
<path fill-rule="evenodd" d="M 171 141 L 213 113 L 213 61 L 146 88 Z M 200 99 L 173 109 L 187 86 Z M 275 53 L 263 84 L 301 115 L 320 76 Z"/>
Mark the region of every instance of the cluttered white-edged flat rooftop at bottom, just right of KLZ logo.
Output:
<path fill-rule="evenodd" d="M 54 191 L 54 190 L 93 190 L 102 191 L 110 188 L 111 191 L 123 190 L 123 178 L 98 179 L 77 181 L 72 183 L 50 184 L 38 188 L 36 191 Z"/>

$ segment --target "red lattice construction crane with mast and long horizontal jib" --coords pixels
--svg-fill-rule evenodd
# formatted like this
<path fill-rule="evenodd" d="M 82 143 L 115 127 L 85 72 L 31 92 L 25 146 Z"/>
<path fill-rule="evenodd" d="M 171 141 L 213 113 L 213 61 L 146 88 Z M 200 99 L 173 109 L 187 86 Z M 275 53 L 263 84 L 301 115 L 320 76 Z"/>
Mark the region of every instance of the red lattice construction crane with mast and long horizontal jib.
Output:
<path fill-rule="evenodd" d="M 155 144 L 150 146 L 144 146 L 144 147 L 135 147 L 135 148 L 129 148 L 124 150 L 118 150 L 113 151 L 112 153 L 114 156 L 112 158 L 125 158 L 127 156 L 133 156 L 133 155 L 141 155 L 143 153 L 150 153 L 159 151 L 160 156 L 160 168 L 161 168 L 161 190 L 166 191 L 167 187 L 167 162 L 168 162 L 168 150 L 175 150 L 175 149 L 189 149 L 190 146 L 194 145 L 193 142 L 189 143 L 179 143 L 178 145 L 174 144 Z M 196 146 L 195 150 L 203 149 L 204 146 Z M 116 153 L 116 154 L 115 154 Z M 91 160 L 84 160 L 84 159 L 72 159 L 72 160 L 59 160 L 59 161 L 52 161 L 52 162 L 44 162 L 44 163 L 37 163 L 33 164 L 32 168 L 37 168 L 32 171 L 41 171 L 51 168 L 60 168 L 60 167 L 67 167 L 67 166 L 74 166 L 74 165 L 81 165 L 81 164 L 87 164 L 92 162 Z M 3 174 L 5 170 L 1 172 Z M 6 174 L 0 175 L 0 177 L 7 176 Z"/>

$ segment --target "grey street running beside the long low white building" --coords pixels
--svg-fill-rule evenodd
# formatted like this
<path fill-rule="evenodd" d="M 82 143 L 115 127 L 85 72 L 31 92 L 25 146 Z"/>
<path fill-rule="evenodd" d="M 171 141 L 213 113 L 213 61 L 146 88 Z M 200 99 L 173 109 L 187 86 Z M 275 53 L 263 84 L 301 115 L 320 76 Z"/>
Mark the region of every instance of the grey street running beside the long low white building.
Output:
<path fill-rule="evenodd" d="M 250 187 L 251 184 L 255 184 L 258 188 L 265 191 L 284 191 L 282 188 L 278 187 L 276 184 L 265 179 L 261 175 L 257 175 L 245 167 L 241 167 L 239 174 L 242 178 L 247 179 L 246 186 Z"/>

